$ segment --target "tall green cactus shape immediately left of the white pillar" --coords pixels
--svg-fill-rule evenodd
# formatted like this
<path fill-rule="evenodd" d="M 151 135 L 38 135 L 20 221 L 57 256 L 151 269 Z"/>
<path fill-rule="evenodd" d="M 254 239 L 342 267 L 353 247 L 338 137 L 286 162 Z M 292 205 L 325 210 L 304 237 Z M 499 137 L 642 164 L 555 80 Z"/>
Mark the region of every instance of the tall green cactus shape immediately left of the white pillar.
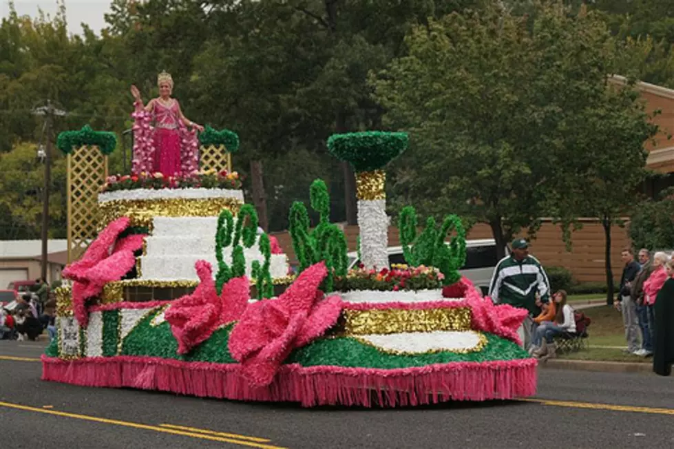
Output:
<path fill-rule="evenodd" d="M 313 231 L 309 231 L 308 211 L 304 203 L 295 201 L 288 217 L 293 249 L 299 260 L 300 273 L 313 264 L 325 261 L 328 275 L 322 289 L 332 291 L 335 276 L 346 276 L 348 269 L 346 237 L 344 231 L 330 223 L 330 195 L 323 180 L 312 182 L 309 196 L 311 208 L 319 213 L 319 223 Z"/>

